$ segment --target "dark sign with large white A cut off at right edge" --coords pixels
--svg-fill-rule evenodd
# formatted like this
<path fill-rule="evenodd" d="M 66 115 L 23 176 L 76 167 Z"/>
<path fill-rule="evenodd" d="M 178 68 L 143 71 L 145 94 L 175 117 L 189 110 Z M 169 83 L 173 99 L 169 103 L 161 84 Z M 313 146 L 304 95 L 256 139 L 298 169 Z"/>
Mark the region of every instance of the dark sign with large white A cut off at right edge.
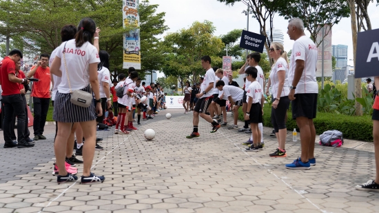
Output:
<path fill-rule="evenodd" d="M 355 78 L 377 77 L 379 67 L 379 29 L 358 32 Z"/>

